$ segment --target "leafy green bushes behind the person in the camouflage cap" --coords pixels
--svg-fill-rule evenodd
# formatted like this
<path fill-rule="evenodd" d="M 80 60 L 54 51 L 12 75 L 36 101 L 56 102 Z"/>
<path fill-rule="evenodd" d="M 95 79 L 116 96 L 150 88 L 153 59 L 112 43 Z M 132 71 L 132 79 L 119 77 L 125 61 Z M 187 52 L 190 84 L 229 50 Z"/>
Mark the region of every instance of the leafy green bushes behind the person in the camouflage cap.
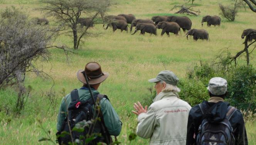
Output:
<path fill-rule="evenodd" d="M 187 73 L 187 80 L 181 83 L 181 88 L 185 93 L 181 92 L 180 97 L 192 106 L 198 104 L 209 96 L 206 89 L 209 80 L 212 77 L 223 77 L 228 84 L 226 101 L 238 109 L 255 111 L 256 69 L 250 65 L 233 66 L 229 67 L 228 72 L 225 72 L 214 65 L 201 61 L 199 66 L 195 66 L 192 71 Z"/>

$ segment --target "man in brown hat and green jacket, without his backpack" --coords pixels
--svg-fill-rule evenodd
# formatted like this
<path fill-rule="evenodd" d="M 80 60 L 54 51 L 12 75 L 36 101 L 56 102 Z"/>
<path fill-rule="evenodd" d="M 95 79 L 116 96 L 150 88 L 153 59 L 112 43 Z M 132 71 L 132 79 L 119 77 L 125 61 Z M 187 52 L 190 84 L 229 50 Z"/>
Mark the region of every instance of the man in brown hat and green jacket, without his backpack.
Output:
<path fill-rule="evenodd" d="M 99 92 L 97 91 L 101 82 L 103 82 L 107 77 L 108 73 L 103 73 L 101 71 L 101 66 L 96 62 L 90 62 L 86 64 L 84 70 L 79 70 L 77 72 L 77 78 L 83 83 L 83 87 L 77 89 L 80 101 L 86 101 L 91 98 L 89 88 L 87 87 L 86 79 L 84 74 L 88 77 L 88 82 L 91 87 L 93 96 L 97 96 Z M 67 94 L 61 101 L 61 106 L 59 109 L 58 119 L 57 119 L 57 131 L 61 131 L 62 122 L 66 118 L 67 106 L 71 103 L 71 93 Z M 103 114 L 104 125 L 109 133 L 109 135 L 118 136 L 121 132 L 122 122 L 120 121 L 115 109 L 110 104 L 109 100 L 103 97 L 99 105 L 101 106 L 101 112 Z M 94 127 L 94 132 L 101 133 L 100 126 L 96 125 Z"/>

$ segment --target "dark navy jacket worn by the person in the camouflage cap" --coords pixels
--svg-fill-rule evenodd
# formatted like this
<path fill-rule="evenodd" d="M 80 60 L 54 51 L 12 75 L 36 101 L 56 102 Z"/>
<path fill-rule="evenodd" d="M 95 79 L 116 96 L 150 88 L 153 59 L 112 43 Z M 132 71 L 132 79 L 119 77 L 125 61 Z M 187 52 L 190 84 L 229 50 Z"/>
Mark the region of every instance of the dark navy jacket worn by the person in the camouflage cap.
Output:
<path fill-rule="evenodd" d="M 209 109 L 211 106 L 216 104 L 215 102 L 204 101 L 203 105 L 205 109 Z M 218 103 L 214 109 L 211 111 L 211 116 L 208 116 L 212 122 L 218 122 L 226 117 L 228 102 Z M 187 142 L 186 145 L 196 145 L 198 128 L 203 120 L 202 111 L 199 105 L 195 105 L 189 112 L 189 120 L 187 124 Z M 236 139 L 236 145 L 248 145 L 246 130 L 244 127 L 244 119 L 242 113 L 237 109 L 229 120 L 233 129 L 234 136 Z M 194 136 L 195 135 L 195 136 Z"/>

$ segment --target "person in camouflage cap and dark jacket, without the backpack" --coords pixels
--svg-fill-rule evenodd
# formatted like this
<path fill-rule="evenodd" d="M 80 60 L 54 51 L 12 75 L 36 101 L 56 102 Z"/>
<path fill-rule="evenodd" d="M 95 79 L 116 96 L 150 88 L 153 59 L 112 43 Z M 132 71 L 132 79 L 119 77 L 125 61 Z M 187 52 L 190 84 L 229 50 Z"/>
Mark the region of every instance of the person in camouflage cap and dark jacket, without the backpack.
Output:
<path fill-rule="evenodd" d="M 207 119 L 209 122 L 218 123 L 224 120 L 227 114 L 227 108 L 230 106 L 228 102 L 224 102 L 227 96 L 227 81 L 221 77 L 213 77 L 210 79 L 207 90 L 209 92 L 209 101 L 201 103 L 202 109 L 206 115 L 202 114 L 200 105 L 197 104 L 191 108 L 189 112 L 189 120 L 187 123 L 187 142 L 186 145 L 197 145 L 197 135 L 202 120 Z M 246 129 L 244 126 L 243 115 L 239 109 L 229 119 L 234 130 L 235 144 L 248 145 Z"/>

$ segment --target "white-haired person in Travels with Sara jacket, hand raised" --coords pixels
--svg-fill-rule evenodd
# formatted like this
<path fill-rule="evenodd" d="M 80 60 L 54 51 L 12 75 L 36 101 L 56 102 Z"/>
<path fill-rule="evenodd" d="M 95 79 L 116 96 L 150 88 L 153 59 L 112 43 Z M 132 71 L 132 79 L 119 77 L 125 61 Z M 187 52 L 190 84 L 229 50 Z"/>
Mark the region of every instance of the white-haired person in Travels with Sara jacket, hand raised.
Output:
<path fill-rule="evenodd" d="M 179 78 L 171 71 L 161 71 L 155 82 L 157 96 L 147 109 L 140 102 L 134 104 L 138 115 L 137 135 L 150 138 L 150 145 L 185 145 L 190 105 L 179 99 Z"/>

